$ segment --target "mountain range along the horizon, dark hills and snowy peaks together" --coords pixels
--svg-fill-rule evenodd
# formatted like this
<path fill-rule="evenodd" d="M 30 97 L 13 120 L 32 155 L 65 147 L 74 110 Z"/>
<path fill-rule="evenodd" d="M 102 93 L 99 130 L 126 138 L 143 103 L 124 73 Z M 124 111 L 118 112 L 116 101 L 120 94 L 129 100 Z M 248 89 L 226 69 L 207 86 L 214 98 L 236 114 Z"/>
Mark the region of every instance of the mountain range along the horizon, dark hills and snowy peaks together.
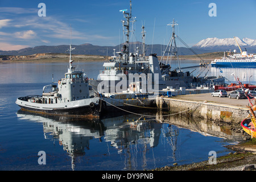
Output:
<path fill-rule="evenodd" d="M 249 53 L 256 52 L 256 39 L 249 39 L 249 38 L 243 38 L 240 39 L 236 37 L 236 40 L 238 44 L 240 45 L 242 51 L 247 49 Z M 229 51 L 233 49 L 237 49 L 239 52 L 239 48 L 237 46 L 236 40 L 234 38 L 225 38 L 225 39 L 218 39 L 218 38 L 207 38 L 203 39 L 195 46 L 192 46 L 194 52 L 197 54 L 200 53 L 207 53 L 207 52 L 221 52 L 221 51 Z M 133 43 L 132 45 L 134 45 Z M 77 55 L 101 55 L 101 56 L 112 56 L 113 55 L 113 49 L 115 49 L 115 52 L 118 52 L 122 48 L 122 44 L 118 46 L 94 46 L 92 44 L 81 44 L 81 45 L 72 45 L 72 47 L 75 47 L 76 49 L 72 51 L 73 54 Z M 136 42 L 136 46 L 139 47 L 139 49 L 142 48 L 141 42 Z M 69 45 L 60 45 L 60 46 L 36 46 L 36 47 L 28 47 L 23 48 L 18 51 L 1 51 L 0 55 L 32 55 L 35 53 L 68 53 L 67 50 L 69 48 Z M 164 49 L 166 46 L 163 46 L 161 44 L 154 44 L 154 45 L 146 45 L 147 51 L 146 55 L 149 55 L 150 53 L 156 53 L 158 56 L 161 56 L 163 54 Z M 133 46 L 130 46 L 131 52 L 133 52 L 135 48 Z M 187 47 L 178 47 L 177 51 L 179 55 L 193 55 L 194 53 Z"/>

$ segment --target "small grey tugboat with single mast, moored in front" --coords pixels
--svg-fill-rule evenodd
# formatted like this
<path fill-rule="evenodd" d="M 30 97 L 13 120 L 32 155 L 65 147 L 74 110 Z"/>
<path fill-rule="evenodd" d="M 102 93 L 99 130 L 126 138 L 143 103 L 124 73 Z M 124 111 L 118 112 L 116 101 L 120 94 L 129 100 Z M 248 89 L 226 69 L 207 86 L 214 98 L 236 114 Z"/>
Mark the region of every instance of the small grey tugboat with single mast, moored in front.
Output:
<path fill-rule="evenodd" d="M 23 110 L 36 113 L 99 117 L 101 100 L 90 96 L 88 78 L 72 66 L 73 49 L 70 45 L 69 69 L 64 78 L 44 86 L 42 96 L 19 97 L 15 103 Z"/>

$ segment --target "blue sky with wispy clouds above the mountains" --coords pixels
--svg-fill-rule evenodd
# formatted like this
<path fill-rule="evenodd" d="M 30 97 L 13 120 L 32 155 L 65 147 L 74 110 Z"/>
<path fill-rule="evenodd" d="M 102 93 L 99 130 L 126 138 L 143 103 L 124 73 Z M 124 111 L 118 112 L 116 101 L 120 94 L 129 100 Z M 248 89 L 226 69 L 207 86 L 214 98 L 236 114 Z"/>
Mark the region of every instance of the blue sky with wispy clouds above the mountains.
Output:
<path fill-rule="evenodd" d="M 46 16 L 38 16 L 39 3 L 46 5 Z M 216 4 L 217 16 L 208 15 L 210 3 Z M 167 44 L 172 19 L 189 46 L 214 37 L 256 39 L 256 0 L 133 0 L 132 5 L 135 40 L 141 41 L 143 23 L 146 44 Z M 70 25 L 73 45 L 117 46 L 123 42 L 122 9 L 129 9 L 129 0 L 0 0 L 0 50 L 67 45 Z"/>

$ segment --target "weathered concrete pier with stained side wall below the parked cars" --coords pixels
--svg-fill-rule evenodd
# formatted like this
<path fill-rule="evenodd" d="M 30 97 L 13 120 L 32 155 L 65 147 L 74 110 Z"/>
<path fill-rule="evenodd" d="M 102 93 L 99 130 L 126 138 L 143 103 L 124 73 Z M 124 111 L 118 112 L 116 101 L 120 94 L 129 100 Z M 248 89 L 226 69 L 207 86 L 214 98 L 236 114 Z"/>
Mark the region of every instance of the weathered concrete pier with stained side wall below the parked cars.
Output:
<path fill-rule="evenodd" d="M 210 93 L 181 95 L 177 97 L 156 97 L 156 106 L 170 114 L 203 117 L 240 125 L 247 117 L 247 99 L 211 97 Z"/>

